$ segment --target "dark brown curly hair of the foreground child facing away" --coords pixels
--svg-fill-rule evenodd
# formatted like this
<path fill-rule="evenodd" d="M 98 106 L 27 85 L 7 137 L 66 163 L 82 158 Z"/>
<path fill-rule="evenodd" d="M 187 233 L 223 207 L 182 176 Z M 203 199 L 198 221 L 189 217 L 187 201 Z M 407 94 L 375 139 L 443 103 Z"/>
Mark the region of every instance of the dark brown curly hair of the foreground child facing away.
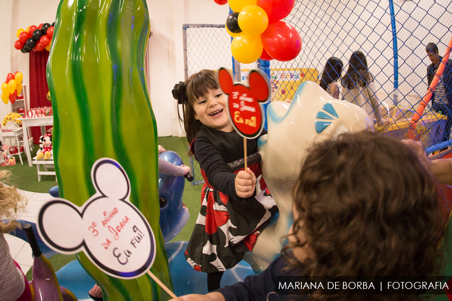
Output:
<path fill-rule="evenodd" d="M 285 249 L 305 246 L 304 276 L 437 275 L 444 233 L 437 190 L 411 149 L 376 133 L 342 134 L 315 144 L 294 191 L 293 233 Z M 301 233 L 302 233 L 301 232 Z M 367 300 L 420 299 L 368 295 Z M 358 300 L 361 295 L 311 295 L 311 300 Z"/>

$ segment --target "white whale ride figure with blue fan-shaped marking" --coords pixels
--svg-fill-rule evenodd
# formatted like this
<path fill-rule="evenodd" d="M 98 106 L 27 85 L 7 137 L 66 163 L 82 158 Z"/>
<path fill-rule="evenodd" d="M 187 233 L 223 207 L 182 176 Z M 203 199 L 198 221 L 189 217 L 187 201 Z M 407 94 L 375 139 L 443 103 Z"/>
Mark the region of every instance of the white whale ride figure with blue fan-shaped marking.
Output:
<path fill-rule="evenodd" d="M 340 133 L 373 131 L 365 110 L 334 99 L 311 81 L 298 87 L 291 104 L 270 103 L 267 124 L 268 135 L 259 139 L 258 147 L 262 174 L 279 208 L 279 218 L 259 234 L 252 254 L 246 257 L 255 270 L 265 268 L 265 262 L 271 262 L 280 253 L 281 237 L 287 234 L 293 221 L 293 189 L 308 148 Z"/>

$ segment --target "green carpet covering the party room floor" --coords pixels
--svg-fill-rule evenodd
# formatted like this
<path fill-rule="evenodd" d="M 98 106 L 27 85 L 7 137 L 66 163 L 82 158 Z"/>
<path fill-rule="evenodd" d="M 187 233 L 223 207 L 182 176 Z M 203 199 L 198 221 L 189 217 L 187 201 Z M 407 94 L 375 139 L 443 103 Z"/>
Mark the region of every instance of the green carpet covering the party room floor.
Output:
<path fill-rule="evenodd" d="M 184 161 L 185 165 L 189 165 L 189 158 L 185 154 L 188 152 L 187 139 L 185 137 L 159 137 L 159 144 L 167 150 L 173 150 Z M 35 146 L 33 156 L 35 156 L 38 146 Z M 49 189 L 53 186 L 57 186 L 55 182 L 55 176 L 43 176 L 41 182 L 38 182 L 38 174 L 36 166 L 29 167 L 27 164 L 27 156 L 22 154 L 22 160 L 24 165 L 21 165 L 19 157 L 16 156 L 16 165 L 5 167 L 11 172 L 12 176 L 8 180 L 9 185 L 32 192 L 48 193 Z M 198 175 L 199 176 L 199 175 Z M 190 218 L 182 231 L 172 241 L 188 241 L 193 231 L 196 219 L 198 217 L 200 203 L 201 203 L 201 188 L 202 185 L 191 186 L 190 182 L 185 181 L 183 202 L 188 208 Z M 75 255 L 62 255 L 56 254 L 49 258 L 55 271 L 59 270 L 62 266 L 75 259 Z M 31 280 L 32 269 L 27 273 L 27 279 Z"/>

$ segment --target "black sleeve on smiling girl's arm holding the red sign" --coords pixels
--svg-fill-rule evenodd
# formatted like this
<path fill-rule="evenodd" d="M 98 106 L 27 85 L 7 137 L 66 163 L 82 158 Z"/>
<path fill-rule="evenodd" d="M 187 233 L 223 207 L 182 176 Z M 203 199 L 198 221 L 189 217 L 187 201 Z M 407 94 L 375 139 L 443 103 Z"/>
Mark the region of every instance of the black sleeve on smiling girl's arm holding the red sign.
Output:
<path fill-rule="evenodd" d="M 226 171 L 226 163 L 209 140 L 197 138 L 193 143 L 196 160 L 205 172 L 207 181 L 214 189 L 243 204 L 247 204 L 249 200 L 255 197 L 256 190 L 247 199 L 242 199 L 237 196 L 234 182 L 237 175 Z"/>

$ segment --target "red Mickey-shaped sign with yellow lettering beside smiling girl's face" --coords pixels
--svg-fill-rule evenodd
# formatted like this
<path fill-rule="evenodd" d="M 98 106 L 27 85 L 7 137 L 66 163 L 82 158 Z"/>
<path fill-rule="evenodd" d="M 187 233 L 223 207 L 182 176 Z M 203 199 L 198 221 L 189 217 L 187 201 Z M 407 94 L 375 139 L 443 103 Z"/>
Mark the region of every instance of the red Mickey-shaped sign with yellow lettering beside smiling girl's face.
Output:
<path fill-rule="evenodd" d="M 231 73 L 218 70 L 218 84 L 224 94 L 229 95 L 228 113 L 236 131 L 245 138 L 257 137 L 264 128 L 264 114 L 261 103 L 270 98 L 270 86 L 265 75 L 256 69 L 248 76 L 250 86 L 234 84 Z"/>

